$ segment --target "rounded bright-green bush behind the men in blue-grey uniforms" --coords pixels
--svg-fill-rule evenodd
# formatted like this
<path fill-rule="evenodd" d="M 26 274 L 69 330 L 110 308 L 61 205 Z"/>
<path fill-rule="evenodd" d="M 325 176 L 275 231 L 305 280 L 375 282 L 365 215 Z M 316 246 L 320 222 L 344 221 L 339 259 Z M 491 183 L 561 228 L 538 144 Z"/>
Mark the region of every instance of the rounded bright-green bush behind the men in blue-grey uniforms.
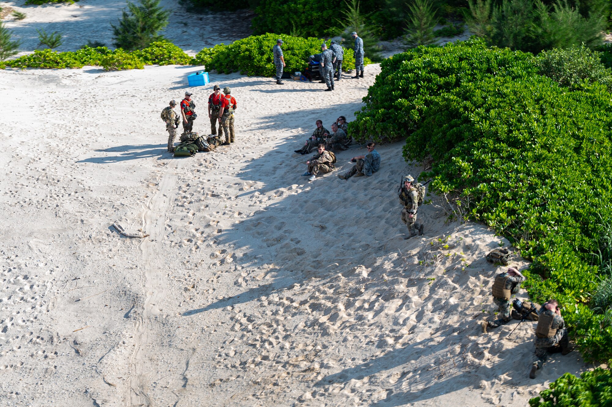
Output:
<path fill-rule="evenodd" d="M 272 47 L 278 38 L 283 40 L 285 71 L 303 71 L 308 65 L 308 56 L 321 53 L 323 42 L 319 39 L 264 34 L 237 40 L 229 45 L 218 44 L 213 48 L 204 48 L 195 56 L 193 63 L 220 73 L 239 71 L 245 75 L 274 76 L 276 68 L 272 60 Z M 329 46 L 330 42 L 326 43 Z M 366 58 L 364 62 L 368 64 L 371 61 Z M 355 67 L 352 52 L 345 50 L 342 67 Z"/>

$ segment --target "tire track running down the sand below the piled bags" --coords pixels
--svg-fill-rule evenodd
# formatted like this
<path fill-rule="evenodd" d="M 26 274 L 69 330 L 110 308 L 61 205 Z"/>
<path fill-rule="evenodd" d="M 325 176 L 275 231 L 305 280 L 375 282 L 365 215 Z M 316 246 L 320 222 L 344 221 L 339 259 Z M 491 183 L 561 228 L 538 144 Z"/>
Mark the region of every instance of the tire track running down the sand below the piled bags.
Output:
<path fill-rule="evenodd" d="M 177 161 L 170 161 L 159 183 L 159 191 L 151 199 L 143 215 L 143 232 L 149 237 L 140 244 L 144 268 L 145 299 L 135 326 L 135 349 L 130 357 L 129 406 L 150 406 L 147 385 L 151 383 L 151 366 L 147 367 L 147 348 L 154 344 L 155 319 L 160 314 L 159 303 L 166 296 L 165 271 L 160 266 L 160 251 L 165 230 L 166 211 L 173 200 L 172 191 L 179 175 Z"/>

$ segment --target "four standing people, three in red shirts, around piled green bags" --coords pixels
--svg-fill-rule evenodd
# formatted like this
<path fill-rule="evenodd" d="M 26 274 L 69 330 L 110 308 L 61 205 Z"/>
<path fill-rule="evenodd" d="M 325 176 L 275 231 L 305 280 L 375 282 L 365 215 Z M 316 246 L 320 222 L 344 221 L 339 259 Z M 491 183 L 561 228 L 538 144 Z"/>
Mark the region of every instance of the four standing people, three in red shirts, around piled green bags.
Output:
<path fill-rule="evenodd" d="M 219 135 L 225 134 L 225 142 L 222 145 L 230 145 L 235 141 L 234 133 L 234 111 L 237 109 L 236 99 L 231 95 L 230 87 L 221 88 L 215 85 L 212 94 L 208 97 L 208 117 L 211 120 L 211 134 L 217 134 L 217 123 Z M 174 151 L 174 139 L 179 121 L 182 122 L 183 132 L 181 135 L 192 133 L 193 121 L 198 117 L 195 112 L 195 101 L 192 99 L 192 92 L 185 92 L 185 97 L 181 100 L 181 114 L 174 111 L 177 103 L 171 100 L 169 106 L 162 110 L 162 120 L 166 123 L 168 131 L 168 152 Z"/>

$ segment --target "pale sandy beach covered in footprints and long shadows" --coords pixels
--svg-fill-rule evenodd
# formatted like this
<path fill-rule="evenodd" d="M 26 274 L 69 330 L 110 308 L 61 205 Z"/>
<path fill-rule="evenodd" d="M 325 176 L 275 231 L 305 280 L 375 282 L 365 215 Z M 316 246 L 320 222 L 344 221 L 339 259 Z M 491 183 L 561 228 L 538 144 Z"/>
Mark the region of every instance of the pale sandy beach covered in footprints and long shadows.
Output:
<path fill-rule="evenodd" d="M 504 269 L 485 254 L 509 242 L 435 196 L 404 240 L 398 184 L 423 168 L 403 142 L 377 147 L 369 178 L 337 177 L 360 145 L 300 176 L 315 120 L 353 120 L 379 65 L 335 92 L 214 72 L 187 87 L 197 70 L 0 71 L 0 405 L 526 406 L 592 367 L 553 355 L 531 380 L 534 323 L 482 334 Z M 174 158 L 160 111 L 188 89 L 208 134 L 213 84 L 237 100 L 236 143 Z"/>

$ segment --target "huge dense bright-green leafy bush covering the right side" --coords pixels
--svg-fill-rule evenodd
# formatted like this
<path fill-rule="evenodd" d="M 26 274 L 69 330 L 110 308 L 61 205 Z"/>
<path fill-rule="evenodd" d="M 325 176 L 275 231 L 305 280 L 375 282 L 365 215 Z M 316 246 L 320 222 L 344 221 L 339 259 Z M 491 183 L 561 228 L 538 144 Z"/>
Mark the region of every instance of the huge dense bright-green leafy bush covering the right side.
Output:
<path fill-rule="evenodd" d="M 396 55 L 349 131 L 406 137 L 406 160 L 433 158 L 431 188 L 531 259 L 529 295 L 558 299 L 585 358 L 607 360 L 609 318 L 587 304 L 600 281 L 592 254 L 612 221 L 610 92 L 561 87 L 535 62 L 477 42 Z"/>

